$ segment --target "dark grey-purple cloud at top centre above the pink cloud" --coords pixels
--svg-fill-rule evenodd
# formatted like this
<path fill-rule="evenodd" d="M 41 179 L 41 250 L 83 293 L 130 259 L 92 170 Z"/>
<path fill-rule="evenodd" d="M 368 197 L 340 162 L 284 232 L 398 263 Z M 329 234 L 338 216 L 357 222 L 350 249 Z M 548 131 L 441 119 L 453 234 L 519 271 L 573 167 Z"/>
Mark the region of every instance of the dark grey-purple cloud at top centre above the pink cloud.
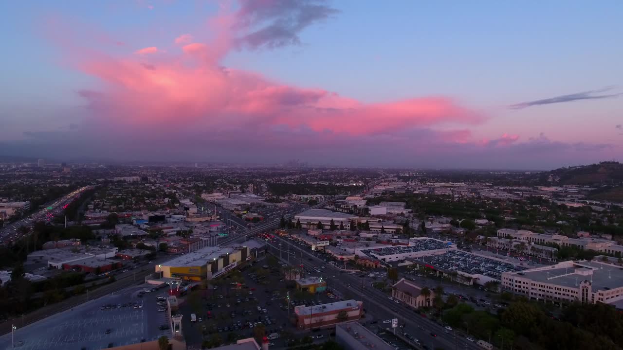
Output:
<path fill-rule="evenodd" d="M 246 34 L 240 45 L 273 49 L 299 45 L 303 29 L 338 13 L 322 0 L 240 0 L 236 29 Z"/>

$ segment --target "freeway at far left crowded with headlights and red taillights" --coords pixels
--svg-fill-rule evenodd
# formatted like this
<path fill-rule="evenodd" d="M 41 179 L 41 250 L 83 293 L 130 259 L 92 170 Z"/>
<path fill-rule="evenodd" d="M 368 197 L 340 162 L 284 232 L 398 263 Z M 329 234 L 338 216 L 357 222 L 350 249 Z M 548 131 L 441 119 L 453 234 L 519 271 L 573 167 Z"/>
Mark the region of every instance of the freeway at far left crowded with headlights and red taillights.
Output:
<path fill-rule="evenodd" d="M 22 237 L 24 234 L 19 230 L 22 226 L 32 229 L 32 225 L 37 221 L 50 222 L 56 215 L 62 213 L 72 201 L 78 199 L 82 192 L 91 188 L 93 188 L 93 186 L 81 187 L 55 201 L 45 204 L 44 209 L 39 210 L 35 214 L 7 225 L 4 229 L 0 230 L 0 242 L 5 244 L 11 243 Z M 27 234 L 30 234 L 30 230 Z"/>

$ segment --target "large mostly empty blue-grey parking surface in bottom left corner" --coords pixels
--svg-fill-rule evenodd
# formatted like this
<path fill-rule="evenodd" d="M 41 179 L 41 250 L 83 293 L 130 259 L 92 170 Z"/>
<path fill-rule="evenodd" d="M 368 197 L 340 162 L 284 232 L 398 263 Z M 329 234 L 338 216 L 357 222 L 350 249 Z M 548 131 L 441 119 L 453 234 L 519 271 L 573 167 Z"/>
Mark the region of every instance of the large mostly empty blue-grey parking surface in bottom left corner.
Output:
<path fill-rule="evenodd" d="M 170 336 L 169 330 L 159 329 L 168 323 L 167 313 L 159 312 L 156 305 L 156 294 L 164 292 L 155 291 L 141 298 L 139 292 L 146 288 L 126 288 L 18 328 L 14 334 L 16 348 L 93 350 Z M 11 349 L 11 333 L 0 337 L 0 349 Z"/>

